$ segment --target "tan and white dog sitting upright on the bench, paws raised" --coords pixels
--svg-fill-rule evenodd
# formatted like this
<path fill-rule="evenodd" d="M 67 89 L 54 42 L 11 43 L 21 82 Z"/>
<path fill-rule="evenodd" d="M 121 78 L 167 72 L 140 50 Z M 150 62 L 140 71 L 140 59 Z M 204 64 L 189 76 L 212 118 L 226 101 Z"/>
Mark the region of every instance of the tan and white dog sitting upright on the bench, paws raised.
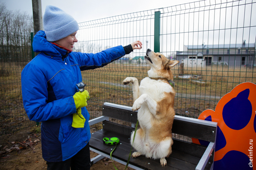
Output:
<path fill-rule="evenodd" d="M 175 111 L 174 82 L 171 68 L 179 63 L 169 60 L 161 53 L 147 49 L 146 62 L 151 66 L 148 77 L 139 82 L 137 78 L 127 77 L 123 84 L 132 83 L 133 106 L 138 110 L 140 128 L 137 130 L 134 142 L 134 131 L 131 144 L 137 152 L 132 157 L 145 155 L 147 158 L 160 159 L 160 164 L 167 164 L 166 157 L 172 153 L 172 123 Z"/>

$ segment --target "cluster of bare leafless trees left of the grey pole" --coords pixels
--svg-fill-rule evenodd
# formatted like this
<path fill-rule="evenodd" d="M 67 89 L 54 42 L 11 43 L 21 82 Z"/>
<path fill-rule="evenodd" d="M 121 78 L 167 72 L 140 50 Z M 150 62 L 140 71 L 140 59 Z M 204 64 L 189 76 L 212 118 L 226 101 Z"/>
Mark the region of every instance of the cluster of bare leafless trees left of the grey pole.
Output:
<path fill-rule="evenodd" d="M 30 32 L 33 32 L 33 18 L 27 12 L 10 11 L 6 4 L 0 4 L 0 59 L 27 61 L 31 54 Z"/>

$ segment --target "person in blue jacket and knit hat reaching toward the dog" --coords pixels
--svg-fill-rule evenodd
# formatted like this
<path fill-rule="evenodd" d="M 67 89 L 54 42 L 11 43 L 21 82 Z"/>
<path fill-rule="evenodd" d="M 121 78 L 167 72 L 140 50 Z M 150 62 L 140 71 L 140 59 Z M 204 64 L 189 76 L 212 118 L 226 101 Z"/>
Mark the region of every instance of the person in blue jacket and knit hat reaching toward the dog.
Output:
<path fill-rule="evenodd" d="M 72 52 L 79 29 L 74 18 L 55 6 L 47 6 L 44 30 L 36 33 L 33 49 L 40 52 L 21 73 L 23 105 L 30 120 L 42 122 L 42 155 L 47 169 L 90 169 L 88 124 L 85 106 L 89 93 L 79 92 L 82 70 L 111 63 L 140 41 L 96 54 Z"/>

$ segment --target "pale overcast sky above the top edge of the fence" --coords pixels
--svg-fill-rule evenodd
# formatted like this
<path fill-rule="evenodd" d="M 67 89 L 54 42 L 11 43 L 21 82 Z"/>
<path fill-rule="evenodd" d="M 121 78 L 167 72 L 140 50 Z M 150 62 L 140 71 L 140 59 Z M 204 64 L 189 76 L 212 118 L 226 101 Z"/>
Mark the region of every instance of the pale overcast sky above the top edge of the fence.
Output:
<path fill-rule="evenodd" d="M 47 5 L 57 6 L 73 16 L 73 18 L 80 23 L 195 1 L 198 0 L 42 0 L 42 13 L 44 15 L 45 7 Z M 0 2 L 5 3 L 8 10 L 27 11 L 28 14 L 33 15 L 32 0 L 1 0 Z"/>

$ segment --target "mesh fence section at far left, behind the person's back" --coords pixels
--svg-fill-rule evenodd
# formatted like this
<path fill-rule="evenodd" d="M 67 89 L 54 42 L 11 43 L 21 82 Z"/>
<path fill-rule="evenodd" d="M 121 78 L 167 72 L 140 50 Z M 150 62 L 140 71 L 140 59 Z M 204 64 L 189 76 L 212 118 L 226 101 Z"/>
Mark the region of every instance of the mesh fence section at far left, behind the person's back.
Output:
<path fill-rule="evenodd" d="M 35 122 L 23 108 L 21 71 L 31 60 L 30 34 L 0 33 L 0 135 L 15 132 Z"/>

